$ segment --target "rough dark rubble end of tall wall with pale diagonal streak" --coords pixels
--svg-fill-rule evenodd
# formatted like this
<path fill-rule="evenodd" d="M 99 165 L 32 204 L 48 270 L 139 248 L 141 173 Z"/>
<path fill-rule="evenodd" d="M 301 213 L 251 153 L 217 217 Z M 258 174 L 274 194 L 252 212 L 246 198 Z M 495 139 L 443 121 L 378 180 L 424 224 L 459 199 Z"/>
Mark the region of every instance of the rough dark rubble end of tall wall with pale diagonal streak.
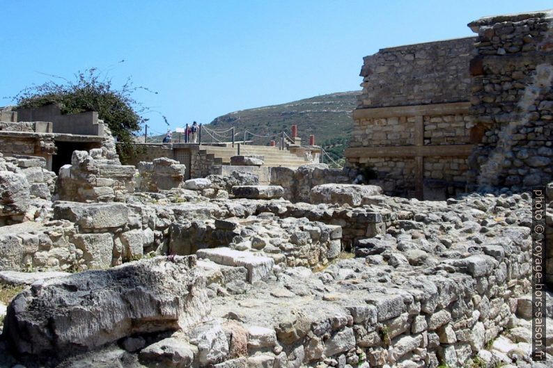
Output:
<path fill-rule="evenodd" d="M 471 63 L 472 114 L 480 144 L 475 187 L 513 191 L 553 180 L 553 15 L 486 17 Z"/>

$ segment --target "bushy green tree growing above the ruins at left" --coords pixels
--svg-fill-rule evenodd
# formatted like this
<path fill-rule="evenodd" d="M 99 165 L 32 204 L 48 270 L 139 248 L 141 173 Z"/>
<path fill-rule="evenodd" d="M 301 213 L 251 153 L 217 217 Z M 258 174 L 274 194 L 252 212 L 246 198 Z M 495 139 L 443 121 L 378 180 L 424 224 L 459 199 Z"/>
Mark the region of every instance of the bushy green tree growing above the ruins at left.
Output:
<path fill-rule="evenodd" d="M 33 108 L 57 104 L 62 113 L 82 113 L 84 111 L 98 111 L 98 118 L 104 120 L 111 133 L 117 138 L 118 153 L 125 159 L 132 147 L 134 133 L 148 121 L 143 113 L 148 112 L 141 103 L 133 97 L 138 89 L 127 79 L 121 88 L 114 88 L 111 79 L 102 77 L 102 73 L 95 67 L 78 72 L 74 79 L 51 76 L 58 81 L 47 81 L 40 86 L 30 86 L 20 91 L 14 99 L 17 107 Z M 153 92 L 157 94 L 157 92 Z M 167 120 L 164 118 L 166 124 Z"/>

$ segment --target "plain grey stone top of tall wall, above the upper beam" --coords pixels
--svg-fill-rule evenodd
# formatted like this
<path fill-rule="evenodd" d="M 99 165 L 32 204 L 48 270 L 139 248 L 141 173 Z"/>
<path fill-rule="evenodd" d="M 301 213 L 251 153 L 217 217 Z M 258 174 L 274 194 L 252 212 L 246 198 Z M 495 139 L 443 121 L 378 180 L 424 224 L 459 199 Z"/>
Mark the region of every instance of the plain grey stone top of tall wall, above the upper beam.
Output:
<path fill-rule="evenodd" d="M 357 109 L 466 101 L 474 38 L 380 49 L 365 56 Z"/>

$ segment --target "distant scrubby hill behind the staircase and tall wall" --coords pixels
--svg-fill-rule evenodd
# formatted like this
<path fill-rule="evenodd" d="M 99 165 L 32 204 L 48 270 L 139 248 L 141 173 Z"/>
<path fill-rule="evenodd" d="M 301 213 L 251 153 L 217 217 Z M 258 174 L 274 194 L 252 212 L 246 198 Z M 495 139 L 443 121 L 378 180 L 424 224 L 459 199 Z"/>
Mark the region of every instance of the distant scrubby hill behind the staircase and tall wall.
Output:
<path fill-rule="evenodd" d="M 333 159 L 341 159 L 352 134 L 352 111 L 357 106 L 359 93 L 331 93 L 286 104 L 235 111 L 215 118 L 206 127 L 222 131 L 234 126 L 235 134 L 247 129 L 258 136 L 270 136 L 286 131 L 286 134 L 291 136 L 292 125 L 297 125 L 302 144 L 309 143 L 309 135 L 314 134 L 316 144 L 325 147 Z M 228 133 L 222 135 L 230 137 Z M 238 134 L 235 139 L 242 141 L 244 138 L 242 134 Z M 265 145 L 270 138 L 248 135 L 247 140 Z M 278 144 L 279 139 L 276 138 L 276 141 Z"/>

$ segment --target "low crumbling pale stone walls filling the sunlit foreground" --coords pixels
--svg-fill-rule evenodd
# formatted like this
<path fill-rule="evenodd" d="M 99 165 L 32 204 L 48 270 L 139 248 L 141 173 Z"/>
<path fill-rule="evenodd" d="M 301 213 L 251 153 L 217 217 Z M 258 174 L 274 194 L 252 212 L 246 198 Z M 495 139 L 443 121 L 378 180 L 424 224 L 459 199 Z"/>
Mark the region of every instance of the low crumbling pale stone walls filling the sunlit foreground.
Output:
<path fill-rule="evenodd" d="M 553 364 L 549 293 L 547 359 L 529 355 L 527 192 L 420 201 L 321 164 L 187 179 L 103 142 L 57 176 L 0 157 L 1 367 Z"/>

